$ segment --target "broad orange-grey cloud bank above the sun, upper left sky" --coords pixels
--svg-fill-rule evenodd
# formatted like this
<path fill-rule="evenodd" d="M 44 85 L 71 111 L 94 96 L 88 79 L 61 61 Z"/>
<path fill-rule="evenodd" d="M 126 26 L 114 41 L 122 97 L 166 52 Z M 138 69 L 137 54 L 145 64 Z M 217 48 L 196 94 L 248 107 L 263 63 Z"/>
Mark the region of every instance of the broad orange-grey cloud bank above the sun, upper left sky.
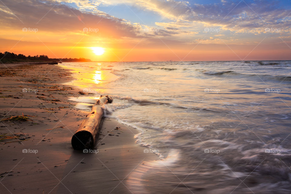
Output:
<path fill-rule="evenodd" d="M 24 27 L 30 27 L 38 28 L 38 32 L 78 32 L 113 38 L 140 36 L 139 26 L 104 13 L 81 12 L 54 1 L 2 0 L 2 2 L 7 7 L 0 3 L 1 22 L 2 26 L 8 28 L 22 30 Z M 95 30 L 83 32 L 83 28 Z"/>

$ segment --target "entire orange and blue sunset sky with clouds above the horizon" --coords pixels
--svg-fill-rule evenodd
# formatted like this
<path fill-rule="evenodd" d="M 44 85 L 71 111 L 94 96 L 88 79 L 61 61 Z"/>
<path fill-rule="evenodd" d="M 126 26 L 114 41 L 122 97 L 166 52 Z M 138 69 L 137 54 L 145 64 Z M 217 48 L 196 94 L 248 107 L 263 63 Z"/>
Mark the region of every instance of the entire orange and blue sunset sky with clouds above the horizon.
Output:
<path fill-rule="evenodd" d="M 0 0 L 0 17 L 1 52 L 95 61 L 291 59 L 290 0 Z"/>

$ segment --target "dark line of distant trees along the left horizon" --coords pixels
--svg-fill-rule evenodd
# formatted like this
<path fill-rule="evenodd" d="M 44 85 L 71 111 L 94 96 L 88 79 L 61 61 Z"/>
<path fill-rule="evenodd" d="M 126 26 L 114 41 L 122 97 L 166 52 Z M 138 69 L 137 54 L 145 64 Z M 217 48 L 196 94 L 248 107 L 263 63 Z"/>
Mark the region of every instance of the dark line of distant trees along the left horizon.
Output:
<path fill-rule="evenodd" d="M 25 56 L 22 54 L 14 54 L 13 52 L 0 52 L 0 61 L 3 62 L 22 62 L 22 61 L 56 61 L 56 62 L 91 62 L 90 59 L 85 58 L 65 58 L 65 59 L 56 59 L 49 58 L 47 55 L 36 55 L 36 56 Z"/>

